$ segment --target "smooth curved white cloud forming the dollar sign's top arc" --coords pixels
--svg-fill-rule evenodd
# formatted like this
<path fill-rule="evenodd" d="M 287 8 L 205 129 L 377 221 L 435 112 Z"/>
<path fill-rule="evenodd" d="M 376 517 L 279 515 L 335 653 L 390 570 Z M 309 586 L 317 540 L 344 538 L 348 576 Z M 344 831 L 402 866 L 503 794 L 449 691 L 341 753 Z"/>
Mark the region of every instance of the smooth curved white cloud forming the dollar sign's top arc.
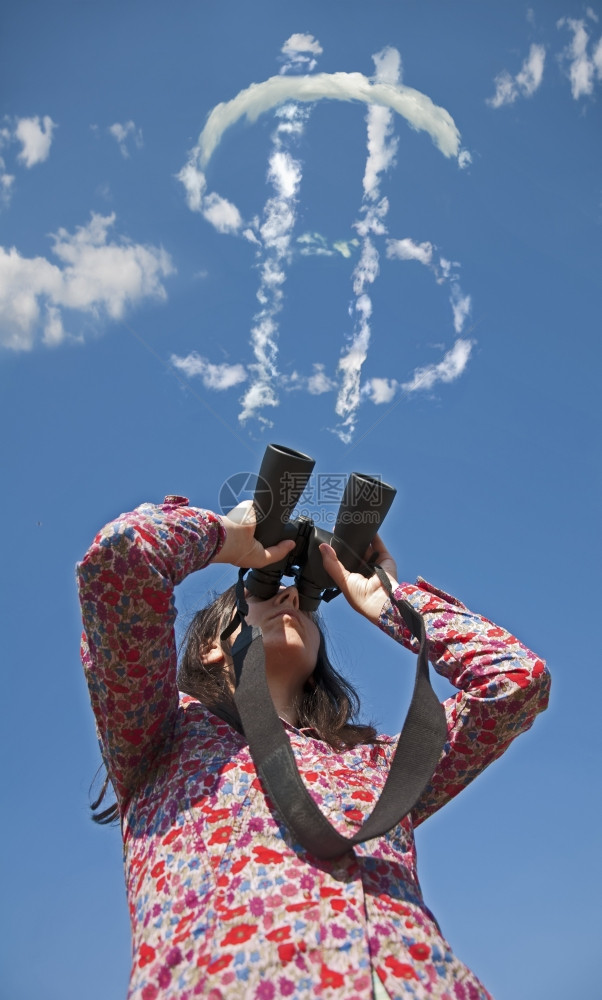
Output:
<path fill-rule="evenodd" d="M 261 114 L 286 101 L 314 102 L 321 99 L 361 101 L 389 107 L 409 125 L 426 131 L 444 156 L 457 156 L 460 133 L 445 108 L 430 97 L 402 84 L 372 82 L 363 73 L 316 73 L 313 76 L 273 76 L 252 83 L 231 101 L 217 104 L 207 118 L 193 156 L 204 169 L 226 129 L 243 116 L 255 122 Z"/>

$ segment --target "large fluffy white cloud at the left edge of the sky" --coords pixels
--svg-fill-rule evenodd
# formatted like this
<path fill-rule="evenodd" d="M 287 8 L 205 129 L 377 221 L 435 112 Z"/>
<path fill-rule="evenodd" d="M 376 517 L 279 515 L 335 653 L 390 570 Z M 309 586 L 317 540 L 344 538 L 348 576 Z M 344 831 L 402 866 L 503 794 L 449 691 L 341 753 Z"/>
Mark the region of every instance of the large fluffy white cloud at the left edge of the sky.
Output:
<path fill-rule="evenodd" d="M 145 298 L 165 299 L 162 279 L 173 273 L 169 255 L 160 247 L 109 242 L 115 215 L 92 214 L 87 226 L 70 234 L 54 234 L 52 252 L 22 257 L 15 247 L 0 247 L 0 343 L 13 350 L 30 350 L 38 333 L 44 343 L 67 336 L 63 311 L 74 310 L 95 319 L 120 319 Z"/>

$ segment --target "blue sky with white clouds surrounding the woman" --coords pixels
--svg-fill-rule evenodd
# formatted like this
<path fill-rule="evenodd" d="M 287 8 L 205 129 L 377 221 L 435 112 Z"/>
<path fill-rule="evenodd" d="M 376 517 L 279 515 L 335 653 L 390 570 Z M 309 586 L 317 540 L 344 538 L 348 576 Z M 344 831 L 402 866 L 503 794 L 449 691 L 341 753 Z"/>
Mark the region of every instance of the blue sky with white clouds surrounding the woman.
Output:
<path fill-rule="evenodd" d="M 73 566 L 269 441 L 397 486 L 400 579 L 547 658 L 549 711 L 418 832 L 421 877 L 496 1000 L 599 989 L 601 37 L 574 0 L 4 5 L 2 996 L 128 977 Z M 326 616 L 395 732 L 410 655 Z"/>

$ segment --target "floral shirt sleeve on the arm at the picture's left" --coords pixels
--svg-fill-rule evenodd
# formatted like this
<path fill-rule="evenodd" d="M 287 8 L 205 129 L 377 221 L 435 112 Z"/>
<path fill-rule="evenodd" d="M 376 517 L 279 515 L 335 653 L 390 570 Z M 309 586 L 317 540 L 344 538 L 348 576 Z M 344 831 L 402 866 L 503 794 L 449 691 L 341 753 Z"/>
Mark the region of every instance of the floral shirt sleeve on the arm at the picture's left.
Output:
<path fill-rule="evenodd" d="M 215 514 L 187 504 L 168 497 L 122 514 L 77 567 L 82 662 L 122 807 L 175 722 L 174 587 L 205 566 L 225 537 Z"/>

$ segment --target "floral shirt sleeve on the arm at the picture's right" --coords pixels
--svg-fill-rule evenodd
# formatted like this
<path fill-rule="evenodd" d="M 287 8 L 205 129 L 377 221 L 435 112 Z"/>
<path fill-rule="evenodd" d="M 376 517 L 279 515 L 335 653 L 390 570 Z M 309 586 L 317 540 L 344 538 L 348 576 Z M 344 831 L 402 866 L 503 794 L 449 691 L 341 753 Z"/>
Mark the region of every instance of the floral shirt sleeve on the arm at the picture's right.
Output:
<path fill-rule="evenodd" d="M 548 704 L 545 663 L 505 629 L 473 614 L 421 578 L 395 597 L 425 621 L 429 660 L 458 693 L 444 703 L 447 741 L 435 773 L 412 811 L 414 826 L 440 809 L 533 724 Z M 380 628 L 408 649 L 417 642 L 389 602 Z"/>

